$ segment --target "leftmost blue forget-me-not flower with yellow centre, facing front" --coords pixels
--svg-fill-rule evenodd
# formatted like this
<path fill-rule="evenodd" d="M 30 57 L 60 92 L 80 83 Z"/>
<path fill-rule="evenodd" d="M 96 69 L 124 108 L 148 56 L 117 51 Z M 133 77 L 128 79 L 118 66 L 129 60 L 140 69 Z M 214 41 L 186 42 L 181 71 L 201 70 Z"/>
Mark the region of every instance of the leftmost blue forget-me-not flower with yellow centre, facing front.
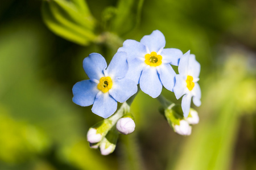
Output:
<path fill-rule="evenodd" d="M 89 80 L 73 86 L 73 102 L 86 107 L 93 104 L 92 112 L 108 118 L 117 110 L 117 101 L 123 103 L 137 92 L 137 84 L 124 78 L 128 63 L 126 53 L 117 52 L 108 68 L 105 58 L 92 53 L 83 61 Z"/>

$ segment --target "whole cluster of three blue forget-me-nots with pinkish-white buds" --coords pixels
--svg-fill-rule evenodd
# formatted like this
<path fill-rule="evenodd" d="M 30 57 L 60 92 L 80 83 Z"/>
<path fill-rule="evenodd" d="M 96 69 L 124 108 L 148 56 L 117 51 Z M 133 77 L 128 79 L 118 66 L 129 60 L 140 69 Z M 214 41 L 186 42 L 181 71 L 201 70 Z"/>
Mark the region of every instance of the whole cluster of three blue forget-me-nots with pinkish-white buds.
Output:
<path fill-rule="evenodd" d="M 182 129 L 184 121 L 189 126 L 189 121 L 185 118 L 189 120 L 189 117 L 193 117 L 190 112 L 191 99 L 197 107 L 201 105 L 201 90 L 197 83 L 200 64 L 190 51 L 183 54 L 179 49 L 164 48 L 165 45 L 163 33 L 156 30 L 151 35 L 144 36 L 140 42 L 135 40 L 123 42 L 123 46 L 118 49 L 108 67 L 101 54 L 92 53 L 84 59 L 83 67 L 89 80 L 82 80 L 73 86 L 73 102 L 83 107 L 93 105 L 92 112 L 105 118 L 102 121 L 104 123 L 101 122 L 94 128 L 90 128 L 88 132 L 88 141 L 97 143 L 92 146 L 98 146 L 101 141 L 104 141 L 106 134 L 102 134 L 102 128 L 99 128 L 103 124 L 104 126 L 109 124 L 108 128 L 103 128 L 104 131 L 106 129 L 114 131 L 113 124 L 117 125 L 117 130 L 123 134 L 129 134 L 134 130 L 135 124 L 127 105 L 121 109 L 122 111 L 120 109 L 117 111 L 117 102 L 124 103 L 136 94 L 137 84 L 145 94 L 153 98 L 159 97 L 163 86 L 174 92 L 177 99 L 183 96 L 181 108 L 184 118 L 172 127 L 179 134 L 191 133 L 191 129 L 190 133 L 189 130 L 183 133 L 184 130 L 179 128 Z M 179 74 L 175 73 L 171 65 L 178 66 Z M 114 114 L 115 111 L 122 113 L 115 117 L 118 115 Z M 107 121 L 110 122 L 106 123 Z M 97 139 L 90 140 L 89 137 L 92 134 L 100 135 L 96 137 Z"/>

